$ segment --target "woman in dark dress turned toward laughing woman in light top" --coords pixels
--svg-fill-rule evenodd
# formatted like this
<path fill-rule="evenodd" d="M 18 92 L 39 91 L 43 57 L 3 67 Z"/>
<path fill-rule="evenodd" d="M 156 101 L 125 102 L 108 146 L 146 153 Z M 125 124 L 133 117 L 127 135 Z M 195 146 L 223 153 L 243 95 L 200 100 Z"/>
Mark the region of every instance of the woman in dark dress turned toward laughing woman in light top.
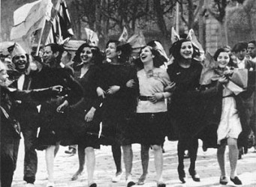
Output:
<path fill-rule="evenodd" d="M 128 62 L 130 54 L 131 46 L 128 43 L 123 44 L 118 40 L 107 42 L 106 57 L 110 62 L 101 67 L 97 89 L 98 95 L 104 98 L 101 107 L 103 135 L 101 144 L 112 146 L 116 163 L 117 171 L 112 179 L 113 182 L 118 182 L 122 176 L 120 146 L 131 144 L 128 122 L 137 105 L 137 72 Z"/>

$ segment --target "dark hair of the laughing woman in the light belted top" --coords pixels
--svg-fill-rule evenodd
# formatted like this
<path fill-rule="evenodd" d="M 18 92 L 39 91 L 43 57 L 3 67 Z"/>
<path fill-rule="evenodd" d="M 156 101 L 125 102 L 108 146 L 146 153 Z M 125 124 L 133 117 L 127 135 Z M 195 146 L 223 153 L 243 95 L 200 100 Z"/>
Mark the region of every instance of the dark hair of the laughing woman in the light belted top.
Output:
<path fill-rule="evenodd" d="M 146 48 L 147 46 L 143 46 L 141 49 L 140 49 L 140 52 L 139 52 L 139 55 L 142 51 L 142 49 Z M 153 58 L 153 66 L 154 67 L 161 67 L 161 65 L 164 64 L 164 58 L 162 58 L 161 54 L 158 52 L 158 50 L 155 50 L 154 48 L 152 48 L 152 46 L 148 46 L 149 49 L 151 50 L 152 52 L 152 55 L 155 56 L 155 58 Z M 144 64 L 143 62 L 141 61 L 140 57 L 137 58 L 135 61 L 134 61 L 134 64 L 135 66 L 137 67 L 138 70 L 141 70 L 143 69 L 144 67 Z"/>

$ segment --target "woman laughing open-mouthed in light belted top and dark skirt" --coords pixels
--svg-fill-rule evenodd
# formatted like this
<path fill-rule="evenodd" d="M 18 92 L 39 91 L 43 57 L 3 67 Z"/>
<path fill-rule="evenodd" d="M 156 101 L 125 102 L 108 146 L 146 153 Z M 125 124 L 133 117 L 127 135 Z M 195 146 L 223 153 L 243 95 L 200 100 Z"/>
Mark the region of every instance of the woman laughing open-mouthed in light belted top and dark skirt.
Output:
<path fill-rule="evenodd" d="M 140 85 L 140 96 L 137 105 L 136 125 L 134 126 L 134 143 L 141 144 L 143 152 L 148 152 L 152 147 L 155 156 L 155 172 L 158 187 L 165 187 L 163 182 L 163 153 L 161 145 L 164 143 L 165 125 L 167 123 L 167 104 L 165 99 L 170 92 L 165 91 L 170 83 L 170 78 L 164 68 L 160 53 L 151 46 L 144 46 L 140 50 L 140 59 L 136 62 L 137 77 Z M 142 155 L 145 155 L 142 153 Z M 140 178 L 139 182 L 145 180 Z"/>

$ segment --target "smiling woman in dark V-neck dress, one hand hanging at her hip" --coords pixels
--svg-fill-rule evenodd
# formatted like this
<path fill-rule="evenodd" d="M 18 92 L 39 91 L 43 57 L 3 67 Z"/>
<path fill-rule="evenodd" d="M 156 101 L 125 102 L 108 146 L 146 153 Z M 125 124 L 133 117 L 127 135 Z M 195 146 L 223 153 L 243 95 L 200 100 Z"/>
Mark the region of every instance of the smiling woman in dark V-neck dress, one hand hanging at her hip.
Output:
<path fill-rule="evenodd" d="M 100 117 L 98 109 L 100 108 L 101 100 L 99 99 L 96 88 L 99 74 L 99 65 L 103 61 L 98 47 L 89 46 L 88 43 L 83 43 L 76 52 L 74 57 L 75 72 L 74 78 L 80 82 L 83 87 L 83 99 L 76 105 L 71 107 L 71 126 L 74 126 L 74 135 L 78 144 L 79 169 L 72 177 L 72 180 L 77 180 L 77 177 L 82 173 L 86 158 L 86 168 L 88 176 L 88 186 L 95 187 L 93 174 L 95 171 L 95 150 L 99 149 L 98 131 Z M 77 65 L 76 65 L 77 64 Z"/>

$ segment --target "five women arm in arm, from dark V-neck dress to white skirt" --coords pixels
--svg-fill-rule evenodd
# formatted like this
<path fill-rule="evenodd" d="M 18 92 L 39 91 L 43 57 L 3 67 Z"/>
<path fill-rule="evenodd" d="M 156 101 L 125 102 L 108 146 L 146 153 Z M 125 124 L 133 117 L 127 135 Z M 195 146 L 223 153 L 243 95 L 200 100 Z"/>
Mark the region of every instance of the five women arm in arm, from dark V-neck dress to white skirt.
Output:
<path fill-rule="evenodd" d="M 164 65 L 166 58 L 155 42 L 143 46 L 139 58 L 133 61 L 130 58 L 131 46 L 118 40 L 107 42 L 105 56 L 97 46 L 88 43 L 77 49 L 74 79 L 80 82 L 83 96 L 64 111 L 68 116 L 65 123 L 68 124 L 69 136 L 63 142 L 67 145 L 67 138 L 70 138 L 69 144 L 78 144 L 79 168 L 72 179 L 80 176 L 86 163 L 88 186 L 96 187 L 95 149 L 101 144 L 111 145 L 116 164 L 115 180 L 122 175 L 123 153 L 126 186 L 134 186 L 131 144 L 138 143 L 141 144 L 143 174 L 137 184 L 143 185 L 146 180 L 151 147 L 155 159 L 155 181 L 158 187 L 166 186 L 162 177 L 162 144 L 165 136 L 172 134 L 169 131 L 174 126 L 179 140 L 177 170 L 182 183 L 186 182 L 185 150 L 190 154 L 188 172 L 194 181 L 200 182 L 195 169 L 200 138 L 205 147 L 218 148 L 219 183 L 224 185 L 228 183 L 224 151 L 225 146 L 229 146 L 230 181 L 241 185 L 236 174 L 237 143 L 245 137 L 239 135 L 246 133 L 248 124 L 242 115 L 242 97 L 229 86 L 230 76 L 236 70 L 230 53 L 226 49 L 215 52 L 215 66 L 207 77 L 207 84 L 200 85 L 203 62 L 195 60 L 200 52 L 190 40 L 173 43 L 170 50 L 173 63 L 168 67 Z M 247 88 L 254 86 L 254 70 L 247 72 L 246 76 Z M 117 182 L 115 180 L 113 182 Z"/>

